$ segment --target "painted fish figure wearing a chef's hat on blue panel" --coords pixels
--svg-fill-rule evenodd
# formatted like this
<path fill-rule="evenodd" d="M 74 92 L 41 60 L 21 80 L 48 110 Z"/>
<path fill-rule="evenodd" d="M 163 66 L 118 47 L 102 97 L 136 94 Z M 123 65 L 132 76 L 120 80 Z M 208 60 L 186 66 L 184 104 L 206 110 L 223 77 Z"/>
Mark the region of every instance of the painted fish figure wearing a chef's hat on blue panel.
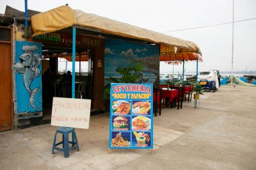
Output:
<path fill-rule="evenodd" d="M 20 62 L 15 64 L 15 71 L 24 75 L 23 83 L 30 94 L 30 105 L 32 108 L 35 108 L 34 97 L 38 93 L 39 87 L 31 89 L 30 85 L 41 74 L 39 69 L 41 65 L 40 54 L 33 54 L 33 52 L 38 50 L 37 46 L 23 46 L 22 50 L 24 53 L 19 56 Z"/>

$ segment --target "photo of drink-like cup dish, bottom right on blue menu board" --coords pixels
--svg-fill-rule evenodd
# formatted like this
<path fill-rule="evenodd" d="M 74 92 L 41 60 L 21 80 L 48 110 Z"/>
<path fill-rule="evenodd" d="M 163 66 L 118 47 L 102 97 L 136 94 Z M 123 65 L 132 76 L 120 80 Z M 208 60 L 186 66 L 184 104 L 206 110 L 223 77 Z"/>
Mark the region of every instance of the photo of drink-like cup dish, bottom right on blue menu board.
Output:
<path fill-rule="evenodd" d="M 133 132 L 132 134 L 132 145 L 135 147 L 150 147 L 150 132 Z"/>

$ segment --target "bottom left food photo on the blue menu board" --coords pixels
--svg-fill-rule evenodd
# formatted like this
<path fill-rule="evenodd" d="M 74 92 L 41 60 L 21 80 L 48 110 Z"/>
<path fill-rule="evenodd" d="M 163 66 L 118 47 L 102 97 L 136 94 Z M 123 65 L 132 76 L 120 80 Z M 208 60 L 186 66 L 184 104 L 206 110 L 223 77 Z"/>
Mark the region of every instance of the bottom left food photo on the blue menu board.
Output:
<path fill-rule="evenodd" d="M 131 132 L 112 132 L 111 146 L 129 147 L 131 146 Z"/>

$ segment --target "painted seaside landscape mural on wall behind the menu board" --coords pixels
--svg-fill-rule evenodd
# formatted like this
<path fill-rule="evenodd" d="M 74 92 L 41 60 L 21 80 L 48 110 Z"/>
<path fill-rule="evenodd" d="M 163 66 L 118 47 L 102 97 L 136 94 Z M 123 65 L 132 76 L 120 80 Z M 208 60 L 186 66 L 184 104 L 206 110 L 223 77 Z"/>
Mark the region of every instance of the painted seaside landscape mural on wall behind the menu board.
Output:
<path fill-rule="evenodd" d="M 105 39 L 105 85 L 159 81 L 159 46 Z"/>

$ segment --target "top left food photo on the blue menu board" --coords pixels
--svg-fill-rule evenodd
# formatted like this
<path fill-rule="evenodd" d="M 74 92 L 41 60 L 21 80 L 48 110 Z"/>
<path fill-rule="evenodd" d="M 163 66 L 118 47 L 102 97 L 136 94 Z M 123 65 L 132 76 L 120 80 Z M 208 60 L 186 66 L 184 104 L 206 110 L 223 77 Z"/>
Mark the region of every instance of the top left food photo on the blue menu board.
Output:
<path fill-rule="evenodd" d="M 125 100 L 113 101 L 112 110 L 114 114 L 131 114 L 131 103 Z"/>

